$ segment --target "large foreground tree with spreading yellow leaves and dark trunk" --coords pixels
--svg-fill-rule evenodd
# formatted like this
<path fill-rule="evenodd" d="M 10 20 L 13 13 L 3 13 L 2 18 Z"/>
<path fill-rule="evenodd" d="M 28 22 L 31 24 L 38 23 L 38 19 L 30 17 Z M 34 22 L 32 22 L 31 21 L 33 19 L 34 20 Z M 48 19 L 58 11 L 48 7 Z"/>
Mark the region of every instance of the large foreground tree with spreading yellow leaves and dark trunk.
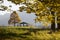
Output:
<path fill-rule="evenodd" d="M 9 0 L 12 1 L 12 0 Z M 60 11 L 60 2 L 59 0 L 24 0 L 24 1 L 20 1 L 20 0 L 14 0 L 13 3 L 15 4 L 20 4 L 20 3 L 24 3 L 27 7 L 24 7 L 23 10 L 27 11 L 27 13 L 31 13 L 34 12 L 35 15 L 37 16 L 37 20 L 40 22 L 42 21 L 42 19 L 46 18 L 46 20 L 49 20 L 49 22 L 51 22 L 51 29 L 52 31 L 55 31 L 55 18 L 57 16 L 59 21 L 59 16 L 57 14 L 59 14 Z M 20 2 L 19 2 L 20 1 Z M 27 10 L 28 9 L 28 10 Z M 21 9 L 20 9 L 21 10 Z M 56 13 L 56 15 L 55 15 Z M 38 19 L 39 17 L 39 19 Z M 44 18 L 43 18 L 44 17 Z M 44 20 L 43 20 L 44 21 Z M 60 22 L 58 23 L 58 29 L 60 29 Z"/>

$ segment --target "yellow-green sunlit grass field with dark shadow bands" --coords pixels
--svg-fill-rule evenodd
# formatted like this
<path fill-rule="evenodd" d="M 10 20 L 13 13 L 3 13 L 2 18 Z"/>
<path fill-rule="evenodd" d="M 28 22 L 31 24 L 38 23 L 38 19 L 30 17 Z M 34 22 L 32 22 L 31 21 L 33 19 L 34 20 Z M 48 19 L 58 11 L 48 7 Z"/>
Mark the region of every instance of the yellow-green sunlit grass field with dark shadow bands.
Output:
<path fill-rule="evenodd" d="M 0 28 L 0 40 L 60 40 L 60 32 L 48 34 L 50 30 L 36 28 Z"/>

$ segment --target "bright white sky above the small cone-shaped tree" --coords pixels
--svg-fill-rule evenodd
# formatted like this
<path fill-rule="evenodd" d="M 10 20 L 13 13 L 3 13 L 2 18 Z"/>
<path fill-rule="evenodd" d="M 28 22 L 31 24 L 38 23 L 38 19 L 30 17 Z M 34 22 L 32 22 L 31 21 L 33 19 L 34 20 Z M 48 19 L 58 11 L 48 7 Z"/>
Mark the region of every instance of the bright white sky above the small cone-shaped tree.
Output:
<path fill-rule="evenodd" d="M 11 11 L 9 9 L 11 9 L 12 11 L 17 11 L 17 10 L 19 10 L 20 6 L 25 6 L 23 4 L 22 5 L 16 5 L 16 4 L 12 3 L 12 2 L 8 2 L 7 0 L 3 0 L 3 1 L 4 2 L 2 4 L 0 4 L 0 5 L 7 6 L 8 10 L 6 10 L 6 11 L 0 11 L 0 15 L 4 15 L 6 13 L 11 13 Z M 10 8 L 9 6 L 12 6 L 12 7 Z"/>

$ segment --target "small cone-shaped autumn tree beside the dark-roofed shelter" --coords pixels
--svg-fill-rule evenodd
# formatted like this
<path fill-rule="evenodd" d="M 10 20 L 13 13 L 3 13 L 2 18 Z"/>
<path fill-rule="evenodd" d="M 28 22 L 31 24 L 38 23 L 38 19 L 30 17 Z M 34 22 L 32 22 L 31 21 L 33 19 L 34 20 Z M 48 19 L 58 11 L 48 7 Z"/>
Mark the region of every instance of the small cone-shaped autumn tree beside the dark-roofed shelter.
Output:
<path fill-rule="evenodd" d="M 16 13 L 16 11 L 13 11 L 13 13 L 10 15 L 10 19 L 8 21 L 8 24 L 14 24 L 14 26 L 15 26 L 15 24 L 19 23 L 20 21 L 21 20 L 20 20 L 18 14 Z"/>

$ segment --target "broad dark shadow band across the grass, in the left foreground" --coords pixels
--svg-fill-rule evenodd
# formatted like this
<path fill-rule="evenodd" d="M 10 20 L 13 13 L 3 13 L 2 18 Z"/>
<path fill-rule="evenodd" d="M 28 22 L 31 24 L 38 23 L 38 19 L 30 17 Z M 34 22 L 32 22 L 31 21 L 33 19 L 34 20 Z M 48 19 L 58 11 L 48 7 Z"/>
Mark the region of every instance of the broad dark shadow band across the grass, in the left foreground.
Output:
<path fill-rule="evenodd" d="M 0 33 L 0 38 L 12 38 L 12 37 L 20 37 L 20 38 L 27 38 L 26 36 L 31 35 L 30 32 L 23 33 L 23 34 L 17 34 L 17 33 Z"/>

